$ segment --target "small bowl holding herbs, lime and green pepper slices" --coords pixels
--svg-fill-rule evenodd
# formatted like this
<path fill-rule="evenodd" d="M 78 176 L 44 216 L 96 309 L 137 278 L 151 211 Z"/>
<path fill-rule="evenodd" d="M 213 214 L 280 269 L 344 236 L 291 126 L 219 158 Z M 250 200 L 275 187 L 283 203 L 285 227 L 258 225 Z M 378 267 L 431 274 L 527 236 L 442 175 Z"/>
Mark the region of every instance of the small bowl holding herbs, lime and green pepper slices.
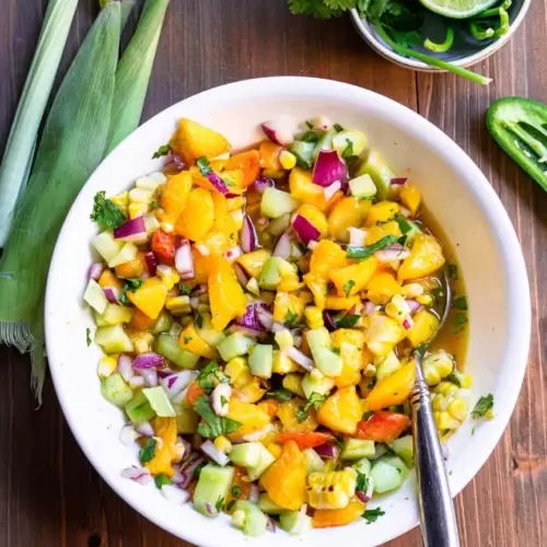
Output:
<path fill-rule="evenodd" d="M 511 26 L 508 34 L 502 36 L 501 38 L 491 42 L 485 42 L 486 45 L 480 43 L 473 43 L 469 40 L 468 43 L 461 42 L 459 44 L 451 48 L 446 54 L 433 54 L 432 51 L 424 53 L 429 55 L 433 55 L 434 57 L 440 57 L 445 61 L 452 62 L 457 67 L 469 67 L 472 65 L 476 65 L 490 57 L 492 54 L 498 51 L 501 47 L 503 47 L 516 32 L 519 26 L 524 20 L 528 8 L 532 4 L 532 0 L 513 0 L 513 4 L 509 10 Z M 399 54 L 396 54 L 379 35 L 373 25 L 369 23 L 369 21 L 361 19 L 358 10 L 351 10 L 351 19 L 353 24 L 356 25 L 357 31 L 362 36 L 362 38 L 381 56 L 386 58 L 389 61 L 395 62 L 404 68 L 410 68 L 412 70 L 418 70 L 421 72 L 446 72 L 443 69 L 438 67 L 431 67 L 422 61 L 417 59 L 411 59 L 408 57 L 403 57 Z M 450 21 L 450 20 L 445 20 Z M 454 20 L 456 24 L 459 24 L 457 20 Z"/>

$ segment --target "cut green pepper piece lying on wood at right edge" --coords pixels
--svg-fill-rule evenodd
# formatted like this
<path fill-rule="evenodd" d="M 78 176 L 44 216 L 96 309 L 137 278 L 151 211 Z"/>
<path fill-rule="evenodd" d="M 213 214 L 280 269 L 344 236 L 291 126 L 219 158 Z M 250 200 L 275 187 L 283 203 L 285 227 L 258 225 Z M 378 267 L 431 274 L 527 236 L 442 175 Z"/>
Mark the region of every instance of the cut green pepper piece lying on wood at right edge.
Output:
<path fill-rule="evenodd" d="M 547 191 L 547 105 L 499 98 L 488 108 L 486 121 L 496 142 Z"/>

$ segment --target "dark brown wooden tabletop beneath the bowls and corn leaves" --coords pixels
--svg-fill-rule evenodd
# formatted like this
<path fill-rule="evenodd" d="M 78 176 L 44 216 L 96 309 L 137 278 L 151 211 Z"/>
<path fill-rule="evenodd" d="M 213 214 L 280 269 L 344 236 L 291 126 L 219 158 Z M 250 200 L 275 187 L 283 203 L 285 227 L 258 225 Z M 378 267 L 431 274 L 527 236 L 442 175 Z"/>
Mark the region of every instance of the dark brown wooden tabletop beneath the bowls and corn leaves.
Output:
<path fill-rule="evenodd" d="M 194 93 L 236 80 L 302 74 L 374 90 L 419 112 L 478 163 L 516 229 L 533 306 L 528 371 L 493 455 L 457 497 L 463 547 L 547 545 L 547 194 L 489 138 L 490 102 L 547 103 L 547 0 L 533 0 L 512 42 L 476 68 L 489 88 L 418 74 L 376 56 L 350 21 L 289 14 L 287 0 L 172 0 L 144 108 L 147 119 Z M 0 150 L 3 150 L 47 0 L 0 0 Z M 65 73 L 97 10 L 81 0 Z M 137 14 L 131 15 L 132 28 Z M 465 219 L 462 220 L 465 222 Z M 93 419 L 90 417 L 90 419 Z M 469 454 L 473 457 L 473 454 Z M 417 529 L 389 547 L 421 545 Z M 184 546 L 124 503 L 88 463 L 50 381 L 36 410 L 30 363 L 0 348 L 0 547 Z"/>

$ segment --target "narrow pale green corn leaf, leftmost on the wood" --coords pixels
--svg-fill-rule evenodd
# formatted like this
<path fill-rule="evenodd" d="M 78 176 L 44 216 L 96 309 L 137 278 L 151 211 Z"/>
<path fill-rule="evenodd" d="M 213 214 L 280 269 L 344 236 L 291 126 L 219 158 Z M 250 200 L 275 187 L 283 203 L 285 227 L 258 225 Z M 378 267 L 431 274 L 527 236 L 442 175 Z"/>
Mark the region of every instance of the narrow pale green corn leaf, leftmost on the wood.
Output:
<path fill-rule="evenodd" d="M 13 212 L 28 179 L 36 136 L 78 0 L 50 0 L 33 62 L 0 165 L 0 247 L 5 244 Z"/>

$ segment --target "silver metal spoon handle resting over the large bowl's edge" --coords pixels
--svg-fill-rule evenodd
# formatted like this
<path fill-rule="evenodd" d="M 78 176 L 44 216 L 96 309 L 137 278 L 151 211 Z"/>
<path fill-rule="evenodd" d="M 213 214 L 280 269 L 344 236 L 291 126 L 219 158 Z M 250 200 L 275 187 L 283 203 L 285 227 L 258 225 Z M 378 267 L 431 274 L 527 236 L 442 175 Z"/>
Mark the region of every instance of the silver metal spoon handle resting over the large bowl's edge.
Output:
<path fill-rule="evenodd" d="M 421 533 L 426 547 L 458 547 L 456 516 L 446 469 L 423 379 L 421 356 L 416 358 L 416 383 L 410 396 Z"/>

